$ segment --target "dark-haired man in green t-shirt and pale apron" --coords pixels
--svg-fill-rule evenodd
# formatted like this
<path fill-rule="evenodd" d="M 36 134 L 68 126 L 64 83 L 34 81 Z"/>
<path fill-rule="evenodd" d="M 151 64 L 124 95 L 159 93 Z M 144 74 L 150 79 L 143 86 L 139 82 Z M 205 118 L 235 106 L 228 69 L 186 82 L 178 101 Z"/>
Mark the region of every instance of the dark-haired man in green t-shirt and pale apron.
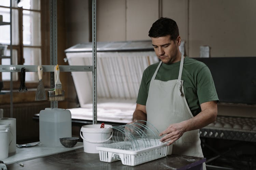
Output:
<path fill-rule="evenodd" d="M 161 61 L 143 72 L 133 121 L 152 123 L 160 132 L 160 141 L 173 144 L 173 154 L 203 157 L 199 129 L 217 116 L 211 72 L 202 62 L 181 54 L 174 20 L 158 19 L 148 35 Z"/>

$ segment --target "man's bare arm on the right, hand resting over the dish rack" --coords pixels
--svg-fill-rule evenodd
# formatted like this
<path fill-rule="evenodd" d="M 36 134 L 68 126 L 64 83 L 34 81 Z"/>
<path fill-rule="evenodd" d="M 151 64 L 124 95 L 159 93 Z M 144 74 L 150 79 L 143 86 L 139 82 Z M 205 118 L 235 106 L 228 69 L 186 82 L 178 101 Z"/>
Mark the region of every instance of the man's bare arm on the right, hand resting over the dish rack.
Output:
<path fill-rule="evenodd" d="M 167 135 L 162 137 L 160 141 L 166 142 L 171 140 L 168 143 L 168 145 L 171 145 L 174 141 L 179 139 L 184 132 L 200 129 L 214 122 L 217 117 L 217 102 L 205 102 L 200 106 L 202 111 L 198 115 L 180 123 L 171 124 L 165 131 L 161 132 L 159 134 L 160 136 L 164 134 Z"/>

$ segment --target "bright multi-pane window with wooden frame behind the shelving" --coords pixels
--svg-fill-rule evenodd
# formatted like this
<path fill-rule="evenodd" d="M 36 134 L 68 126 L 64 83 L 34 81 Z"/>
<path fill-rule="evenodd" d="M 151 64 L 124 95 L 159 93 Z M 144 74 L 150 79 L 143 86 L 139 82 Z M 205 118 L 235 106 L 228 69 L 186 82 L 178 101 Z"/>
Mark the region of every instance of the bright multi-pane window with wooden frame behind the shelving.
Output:
<path fill-rule="evenodd" d="M 22 7 L 12 0 L 12 63 L 2 58 L 2 65 L 42 65 L 41 3 L 40 0 L 23 0 Z M 10 0 L 0 1 L 3 22 L 10 22 Z M 10 25 L 0 26 L 0 44 L 10 45 Z M 10 56 L 8 48 L 7 55 Z M 10 72 L 2 72 L 2 80 L 10 81 Z M 13 73 L 18 81 L 18 73 Z M 26 72 L 26 82 L 38 82 L 37 72 Z"/>

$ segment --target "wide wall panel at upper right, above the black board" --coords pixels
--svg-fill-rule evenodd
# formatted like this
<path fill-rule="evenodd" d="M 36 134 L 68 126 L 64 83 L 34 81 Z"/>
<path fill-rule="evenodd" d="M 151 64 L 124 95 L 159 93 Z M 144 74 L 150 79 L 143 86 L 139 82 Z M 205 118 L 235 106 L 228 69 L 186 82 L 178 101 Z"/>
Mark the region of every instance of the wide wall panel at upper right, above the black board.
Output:
<path fill-rule="evenodd" d="M 189 1 L 189 56 L 209 45 L 212 57 L 255 56 L 256 1 Z"/>

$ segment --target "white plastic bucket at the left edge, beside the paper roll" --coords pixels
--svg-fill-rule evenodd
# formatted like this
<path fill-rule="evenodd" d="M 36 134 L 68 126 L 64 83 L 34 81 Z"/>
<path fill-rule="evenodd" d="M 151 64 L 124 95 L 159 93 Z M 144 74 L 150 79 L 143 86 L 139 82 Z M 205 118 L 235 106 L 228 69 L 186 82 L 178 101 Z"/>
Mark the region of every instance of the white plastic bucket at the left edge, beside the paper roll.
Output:
<path fill-rule="evenodd" d="M 0 123 L 0 160 L 8 158 L 10 123 Z"/>

